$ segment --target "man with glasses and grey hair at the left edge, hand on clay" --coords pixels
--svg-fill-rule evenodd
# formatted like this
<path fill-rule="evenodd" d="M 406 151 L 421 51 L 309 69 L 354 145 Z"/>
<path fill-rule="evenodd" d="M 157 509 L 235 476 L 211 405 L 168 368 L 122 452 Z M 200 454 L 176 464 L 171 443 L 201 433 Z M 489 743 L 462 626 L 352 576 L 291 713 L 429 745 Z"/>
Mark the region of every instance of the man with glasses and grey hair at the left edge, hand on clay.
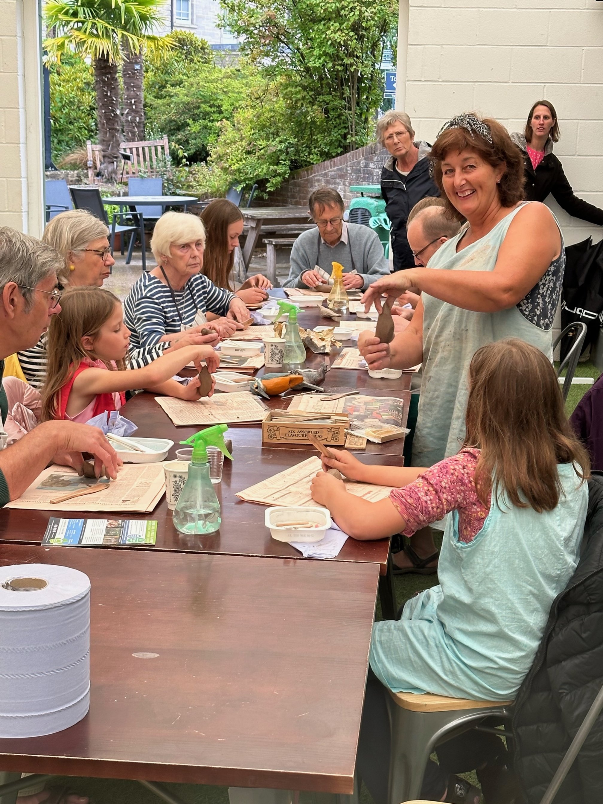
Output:
<path fill-rule="evenodd" d="M 6 226 L 0 227 L 0 507 L 18 498 L 49 463 L 80 468 L 83 452 L 95 458 L 96 474 L 106 466 L 117 477 L 121 462 L 95 427 L 46 421 L 6 447 L 8 412 L 1 378 L 4 359 L 38 343 L 51 315 L 60 313 L 57 270 L 63 260 L 54 248 Z"/>

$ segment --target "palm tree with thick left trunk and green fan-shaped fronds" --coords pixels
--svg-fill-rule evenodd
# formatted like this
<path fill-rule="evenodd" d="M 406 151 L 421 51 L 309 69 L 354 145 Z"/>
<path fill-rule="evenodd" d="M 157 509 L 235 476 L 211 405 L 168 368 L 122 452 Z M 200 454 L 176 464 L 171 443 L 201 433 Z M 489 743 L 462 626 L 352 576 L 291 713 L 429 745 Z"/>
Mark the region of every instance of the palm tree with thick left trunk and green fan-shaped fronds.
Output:
<path fill-rule="evenodd" d="M 92 59 L 100 170 L 109 180 L 117 175 L 121 139 L 119 66 L 124 52 L 153 54 L 170 47 L 165 37 L 151 33 L 162 22 L 161 6 L 161 0 L 51 0 L 45 8 L 47 27 L 55 32 L 44 43 L 48 58 L 59 60 L 64 52 L 76 51 Z M 142 106 L 142 84 L 139 93 Z"/>

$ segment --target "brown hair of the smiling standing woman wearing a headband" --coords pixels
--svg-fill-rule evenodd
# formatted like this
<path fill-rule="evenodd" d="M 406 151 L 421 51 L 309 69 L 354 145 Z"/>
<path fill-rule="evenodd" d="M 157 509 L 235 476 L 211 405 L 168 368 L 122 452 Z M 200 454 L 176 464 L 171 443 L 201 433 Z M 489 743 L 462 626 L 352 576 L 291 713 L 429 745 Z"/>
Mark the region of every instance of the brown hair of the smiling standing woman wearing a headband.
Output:
<path fill-rule="evenodd" d="M 511 140 L 509 132 L 496 120 L 489 117 L 478 117 L 478 120 L 485 123 L 490 129 L 492 142 L 488 142 L 478 132 L 470 132 L 468 129 L 458 126 L 452 129 L 445 129 L 436 142 L 433 143 L 431 159 L 433 164 L 433 178 L 440 188 L 442 198 L 446 201 L 446 215 L 452 220 L 463 222 L 465 218 L 457 208 L 454 207 L 444 190 L 442 182 L 441 163 L 445 160 L 449 152 L 454 151 L 458 154 L 464 150 L 473 150 L 492 167 L 505 166 L 505 172 L 496 185 L 500 203 L 503 207 L 514 207 L 519 201 L 523 201 L 523 184 L 525 176 L 523 173 L 523 158 L 521 151 Z"/>

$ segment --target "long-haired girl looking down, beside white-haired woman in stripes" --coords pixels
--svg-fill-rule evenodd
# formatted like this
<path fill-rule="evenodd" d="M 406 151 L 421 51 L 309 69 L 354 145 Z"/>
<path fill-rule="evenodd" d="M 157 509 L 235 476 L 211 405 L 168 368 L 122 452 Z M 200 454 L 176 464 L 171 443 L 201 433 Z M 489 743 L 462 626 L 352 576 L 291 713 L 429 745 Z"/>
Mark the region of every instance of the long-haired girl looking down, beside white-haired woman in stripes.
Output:
<path fill-rule="evenodd" d="M 215 199 L 207 204 L 200 217 L 206 232 L 203 273 L 217 287 L 234 290 L 231 273 L 235 264 L 235 248 L 243 234 L 243 214 L 231 201 Z M 260 304 L 265 301 L 268 296 L 266 291 L 272 286 L 269 279 L 256 273 L 244 281 L 236 295 L 245 304 Z"/>

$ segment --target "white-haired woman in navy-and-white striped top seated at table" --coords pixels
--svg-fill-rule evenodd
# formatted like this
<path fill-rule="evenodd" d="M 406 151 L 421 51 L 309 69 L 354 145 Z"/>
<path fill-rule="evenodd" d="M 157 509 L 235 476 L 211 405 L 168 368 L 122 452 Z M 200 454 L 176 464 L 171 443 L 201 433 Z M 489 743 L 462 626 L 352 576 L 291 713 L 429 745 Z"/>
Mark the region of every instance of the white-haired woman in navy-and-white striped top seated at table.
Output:
<path fill-rule="evenodd" d="M 131 346 L 173 344 L 181 333 L 203 328 L 228 338 L 249 318 L 238 296 L 201 273 L 204 248 L 205 229 L 196 215 L 166 212 L 155 224 L 151 249 L 158 265 L 142 274 L 124 302 Z"/>

